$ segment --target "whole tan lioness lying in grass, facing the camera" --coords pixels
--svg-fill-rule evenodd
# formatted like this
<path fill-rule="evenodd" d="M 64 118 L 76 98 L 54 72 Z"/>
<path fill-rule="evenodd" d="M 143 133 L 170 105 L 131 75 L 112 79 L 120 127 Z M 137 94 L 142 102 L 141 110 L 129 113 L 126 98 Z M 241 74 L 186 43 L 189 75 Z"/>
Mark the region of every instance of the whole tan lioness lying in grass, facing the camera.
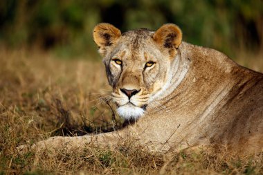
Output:
<path fill-rule="evenodd" d="M 221 145 L 230 153 L 263 148 L 263 74 L 239 66 L 223 53 L 182 42 L 178 26 L 120 33 L 98 24 L 99 46 L 116 112 L 136 121 L 95 136 L 54 137 L 34 147 L 116 145 L 134 136 L 156 151 Z M 62 146 L 63 145 L 63 146 Z"/>

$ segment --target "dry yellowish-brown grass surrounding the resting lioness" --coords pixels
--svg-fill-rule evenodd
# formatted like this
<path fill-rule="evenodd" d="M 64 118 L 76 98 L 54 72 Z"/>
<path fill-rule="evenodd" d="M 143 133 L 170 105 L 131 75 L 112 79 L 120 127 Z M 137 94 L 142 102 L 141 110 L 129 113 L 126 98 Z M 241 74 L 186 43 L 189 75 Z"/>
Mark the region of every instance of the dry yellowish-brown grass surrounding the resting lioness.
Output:
<path fill-rule="evenodd" d="M 240 59 L 263 71 L 262 57 Z M 125 140 L 116 149 L 88 145 L 83 151 L 17 154 L 16 147 L 51 136 L 110 130 L 111 110 L 100 62 L 55 59 L 25 50 L 0 52 L 0 174 L 263 174 L 263 155 L 216 156 L 208 151 L 162 155 Z M 96 106 L 96 107 L 94 107 Z M 101 126 L 98 130 L 96 126 Z"/>

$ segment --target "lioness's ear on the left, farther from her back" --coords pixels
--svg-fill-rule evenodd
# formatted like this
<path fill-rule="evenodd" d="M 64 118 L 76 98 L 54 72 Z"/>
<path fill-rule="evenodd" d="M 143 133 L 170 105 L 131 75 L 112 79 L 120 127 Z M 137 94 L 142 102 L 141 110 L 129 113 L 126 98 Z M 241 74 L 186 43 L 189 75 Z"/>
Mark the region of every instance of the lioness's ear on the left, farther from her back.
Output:
<path fill-rule="evenodd" d="M 107 47 L 116 44 L 120 38 L 120 30 L 115 26 L 107 23 L 100 23 L 93 29 L 94 42 L 99 46 L 99 52 L 102 56 L 107 53 Z"/>

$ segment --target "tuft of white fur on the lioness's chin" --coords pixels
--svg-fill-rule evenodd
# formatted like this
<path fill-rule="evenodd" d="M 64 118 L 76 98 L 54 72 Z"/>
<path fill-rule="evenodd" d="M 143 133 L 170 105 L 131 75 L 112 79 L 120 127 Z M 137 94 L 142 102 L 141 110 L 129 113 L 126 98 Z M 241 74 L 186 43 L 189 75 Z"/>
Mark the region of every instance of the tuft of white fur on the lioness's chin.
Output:
<path fill-rule="evenodd" d="M 140 107 L 135 107 L 131 104 L 126 104 L 124 106 L 118 107 L 117 113 L 120 117 L 125 118 L 126 120 L 129 119 L 138 119 L 140 116 L 143 116 L 145 111 Z"/>

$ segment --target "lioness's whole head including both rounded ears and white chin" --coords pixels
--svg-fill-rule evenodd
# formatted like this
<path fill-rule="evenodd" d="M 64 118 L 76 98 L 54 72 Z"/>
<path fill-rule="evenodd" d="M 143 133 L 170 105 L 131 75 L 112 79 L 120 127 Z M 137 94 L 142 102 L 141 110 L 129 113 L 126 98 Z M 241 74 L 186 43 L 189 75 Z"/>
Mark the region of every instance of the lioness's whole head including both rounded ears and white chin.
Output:
<path fill-rule="evenodd" d="M 126 119 L 143 116 L 151 98 L 167 82 L 181 30 L 167 24 L 155 33 L 139 29 L 121 35 L 110 24 L 98 24 L 94 40 L 104 56 L 118 114 Z"/>

